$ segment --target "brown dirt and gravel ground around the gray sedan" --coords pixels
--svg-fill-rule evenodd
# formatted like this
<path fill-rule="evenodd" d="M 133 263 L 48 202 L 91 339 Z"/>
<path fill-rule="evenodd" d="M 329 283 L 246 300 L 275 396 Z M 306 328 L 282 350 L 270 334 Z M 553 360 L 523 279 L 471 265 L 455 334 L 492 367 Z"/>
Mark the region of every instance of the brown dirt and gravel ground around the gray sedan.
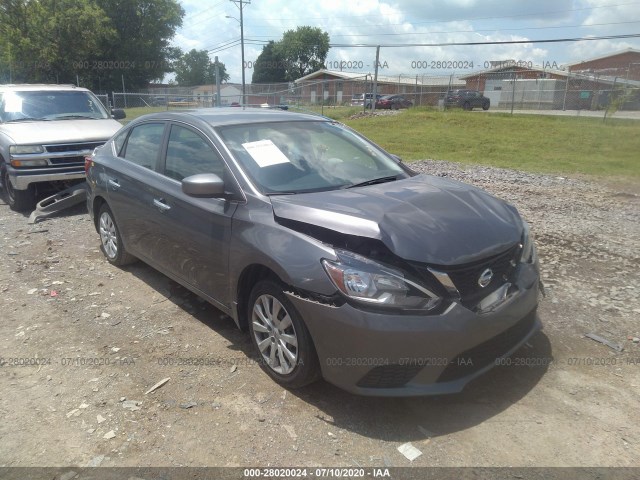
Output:
<path fill-rule="evenodd" d="M 142 263 L 109 265 L 83 205 L 29 225 L 1 203 L 0 466 L 639 466 L 637 188 L 413 166 L 532 225 L 544 331 L 510 365 L 451 396 L 287 391 L 230 318 Z"/>

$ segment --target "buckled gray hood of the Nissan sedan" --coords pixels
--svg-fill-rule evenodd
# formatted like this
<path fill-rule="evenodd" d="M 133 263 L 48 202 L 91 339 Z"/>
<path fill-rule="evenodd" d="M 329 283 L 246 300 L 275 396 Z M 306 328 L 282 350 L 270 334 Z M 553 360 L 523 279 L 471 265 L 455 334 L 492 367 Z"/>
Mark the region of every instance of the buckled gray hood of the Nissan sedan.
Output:
<path fill-rule="evenodd" d="M 271 196 L 276 217 L 381 240 L 409 261 L 467 263 L 520 240 L 516 209 L 470 185 L 418 175 L 330 192 Z"/>

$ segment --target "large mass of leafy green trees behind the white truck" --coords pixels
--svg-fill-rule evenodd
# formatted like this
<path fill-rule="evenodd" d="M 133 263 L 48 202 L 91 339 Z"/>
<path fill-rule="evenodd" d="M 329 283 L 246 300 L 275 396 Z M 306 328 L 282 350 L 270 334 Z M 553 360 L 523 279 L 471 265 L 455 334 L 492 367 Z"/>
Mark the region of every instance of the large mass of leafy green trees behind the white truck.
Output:
<path fill-rule="evenodd" d="M 178 0 L 2 0 L 0 82 L 144 88 L 172 71 Z"/>

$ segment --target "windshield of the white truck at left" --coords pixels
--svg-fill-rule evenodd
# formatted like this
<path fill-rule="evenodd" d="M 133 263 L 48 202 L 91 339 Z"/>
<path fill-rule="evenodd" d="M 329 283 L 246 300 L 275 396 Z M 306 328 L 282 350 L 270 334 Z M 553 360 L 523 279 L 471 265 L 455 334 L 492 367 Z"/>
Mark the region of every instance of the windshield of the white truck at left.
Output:
<path fill-rule="evenodd" d="M 64 120 L 109 118 L 100 100 L 84 91 L 10 91 L 0 93 L 0 119 Z"/>

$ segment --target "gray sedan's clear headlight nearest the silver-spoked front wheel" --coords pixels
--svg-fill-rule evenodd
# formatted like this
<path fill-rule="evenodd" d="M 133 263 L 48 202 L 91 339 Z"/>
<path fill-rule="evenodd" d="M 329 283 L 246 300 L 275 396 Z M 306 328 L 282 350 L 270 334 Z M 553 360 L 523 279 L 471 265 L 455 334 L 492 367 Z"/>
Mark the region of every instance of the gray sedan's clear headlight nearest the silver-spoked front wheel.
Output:
<path fill-rule="evenodd" d="M 382 307 L 432 310 L 440 298 L 394 268 L 344 250 L 338 261 L 322 260 L 334 285 L 347 297 Z"/>

